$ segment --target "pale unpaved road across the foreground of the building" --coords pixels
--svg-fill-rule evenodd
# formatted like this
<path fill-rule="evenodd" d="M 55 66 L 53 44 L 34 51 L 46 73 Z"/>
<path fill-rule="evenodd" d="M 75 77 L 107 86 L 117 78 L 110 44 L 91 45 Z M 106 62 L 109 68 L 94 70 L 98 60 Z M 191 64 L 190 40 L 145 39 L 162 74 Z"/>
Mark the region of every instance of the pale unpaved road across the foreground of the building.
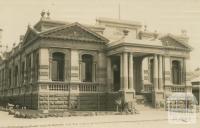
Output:
<path fill-rule="evenodd" d="M 50 117 L 21 119 L 0 112 L 0 128 L 200 128 L 200 115 L 195 124 L 170 124 L 167 112 L 152 110 L 136 115 L 85 117 Z"/>

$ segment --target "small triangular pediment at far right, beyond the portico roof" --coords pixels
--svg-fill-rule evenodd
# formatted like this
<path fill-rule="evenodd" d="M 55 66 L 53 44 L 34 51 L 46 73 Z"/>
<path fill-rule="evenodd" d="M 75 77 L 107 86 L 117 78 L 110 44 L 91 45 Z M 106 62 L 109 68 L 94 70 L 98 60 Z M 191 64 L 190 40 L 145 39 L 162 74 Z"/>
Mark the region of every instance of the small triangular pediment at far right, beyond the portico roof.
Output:
<path fill-rule="evenodd" d="M 162 41 L 163 46 L 171 47 L 171 48 L 179 48 L 185 50 L 191 50 L 191 46 L 189 46 L 185 42 L 179 42 L 171 36 L 165 36 L 160 39 Z"/>

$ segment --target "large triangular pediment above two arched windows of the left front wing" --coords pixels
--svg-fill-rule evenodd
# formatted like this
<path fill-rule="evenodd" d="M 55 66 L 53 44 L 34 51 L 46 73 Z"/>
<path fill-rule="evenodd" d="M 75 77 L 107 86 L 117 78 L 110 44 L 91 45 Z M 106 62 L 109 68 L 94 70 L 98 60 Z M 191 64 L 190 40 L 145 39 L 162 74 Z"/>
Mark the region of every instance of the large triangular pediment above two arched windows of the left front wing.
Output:
<path fill-rule="evenodd" d="M 61 38 L 79 41 L 107 42 L 103 36 L 89 30 L 88 28 L 74 23 L 61 26 L 41 34 L 43 37 Z"/>

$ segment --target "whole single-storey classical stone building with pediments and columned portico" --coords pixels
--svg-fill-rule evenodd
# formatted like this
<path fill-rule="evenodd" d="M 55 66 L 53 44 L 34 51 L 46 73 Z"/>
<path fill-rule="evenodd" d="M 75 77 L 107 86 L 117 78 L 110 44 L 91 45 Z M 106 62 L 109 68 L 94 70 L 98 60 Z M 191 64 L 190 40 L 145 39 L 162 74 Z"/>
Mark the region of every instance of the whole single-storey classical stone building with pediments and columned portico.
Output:
<path fill-rule="evenodd" d="M 114 110 L 145 98 L 154 107 L 186 79 L 188 37 L 143 30 L 140 22 L 99 18 L 96 25 L 42 17 L 0 63 L 0 98 L 32 109 Z"/>

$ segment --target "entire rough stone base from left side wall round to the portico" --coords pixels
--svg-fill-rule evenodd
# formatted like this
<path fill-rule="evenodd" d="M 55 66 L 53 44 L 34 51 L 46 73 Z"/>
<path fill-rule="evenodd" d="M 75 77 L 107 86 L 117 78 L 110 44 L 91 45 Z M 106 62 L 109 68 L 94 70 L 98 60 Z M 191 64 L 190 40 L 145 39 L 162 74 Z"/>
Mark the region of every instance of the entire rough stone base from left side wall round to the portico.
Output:
<path fill-rule="evenodd" d="M 118 93 L 40 92 L 1 97 L 1 104 L 12 103 L 38 110 L 115 111 Z"/>

